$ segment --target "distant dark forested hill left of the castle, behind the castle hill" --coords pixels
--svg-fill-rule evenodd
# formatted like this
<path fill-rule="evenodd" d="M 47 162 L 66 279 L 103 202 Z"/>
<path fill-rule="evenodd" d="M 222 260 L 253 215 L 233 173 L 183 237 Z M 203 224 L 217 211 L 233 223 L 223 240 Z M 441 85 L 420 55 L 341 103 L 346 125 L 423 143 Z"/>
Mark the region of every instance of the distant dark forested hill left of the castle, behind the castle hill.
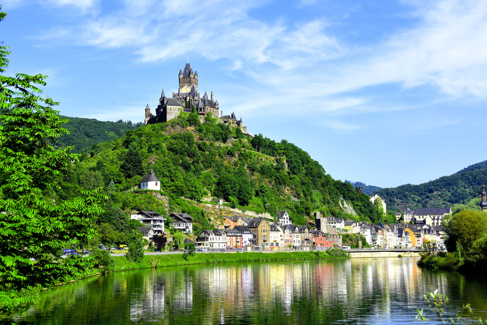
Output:
<path fill-rule="evenodd" d="M 128 130 L 144 125 L 142 122 L 132 123 L 122 120 L 110 122 L 81 117 L 61 116 L 61 118 L 68 119 L 62 127 L 67 129 L 69 134 L 59 137 L 54 147 L 74 146 L 72 152 L 75 153 L 90 152 L 91 146 L 95 143 L 121 138 Z"/>

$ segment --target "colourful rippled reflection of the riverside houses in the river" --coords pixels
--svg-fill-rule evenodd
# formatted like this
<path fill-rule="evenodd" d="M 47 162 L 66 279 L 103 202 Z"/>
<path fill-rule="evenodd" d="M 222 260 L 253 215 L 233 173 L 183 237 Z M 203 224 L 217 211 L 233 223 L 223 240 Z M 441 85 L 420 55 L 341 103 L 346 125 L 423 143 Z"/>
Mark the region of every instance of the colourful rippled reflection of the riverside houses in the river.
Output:
<path fill-rule="evenodd" d="M 290 315 L 297 302 L 311 301 L 326 310 L 342 306 L 343 316 L 366 311 L 394 317 L 398 302 L 415 310 L 428 290 L 447 293 L 445 276 L 422 277 L 416 259 L 351 259 L 347 261 L 219 264 L 158 269 L 130 298 L 130 319 L 161 319 L 180 311 L 201 317 L 202 323 L 273 308 Z M 429 289 L 431 288 L 431 289 Z M 420 297 L 421 296 L 421 297 Z M 420 297 L 420 298 L 419 298 Z M 354 305 L 357 308 L 347 308 Z"/>

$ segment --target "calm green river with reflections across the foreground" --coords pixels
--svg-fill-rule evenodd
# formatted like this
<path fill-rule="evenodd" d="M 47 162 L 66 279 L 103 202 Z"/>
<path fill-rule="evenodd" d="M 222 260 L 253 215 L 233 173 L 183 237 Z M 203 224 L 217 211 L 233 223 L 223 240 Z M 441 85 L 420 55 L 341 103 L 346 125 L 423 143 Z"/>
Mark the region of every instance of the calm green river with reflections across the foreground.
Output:
<path fill-rule="evenodd" d="M 487 281 L 429 272 L 415 258 L 238 263 L 96 277 L 54 289 L 32 324 L 410 324 L 436 288 L 450 314 L 487 318 Z M 421 323 L 421 322 L 418 322 Z M 428 323 L 439 323 L 429 321 Z M 465 319 L 462 323 L 473 323 Z"/>

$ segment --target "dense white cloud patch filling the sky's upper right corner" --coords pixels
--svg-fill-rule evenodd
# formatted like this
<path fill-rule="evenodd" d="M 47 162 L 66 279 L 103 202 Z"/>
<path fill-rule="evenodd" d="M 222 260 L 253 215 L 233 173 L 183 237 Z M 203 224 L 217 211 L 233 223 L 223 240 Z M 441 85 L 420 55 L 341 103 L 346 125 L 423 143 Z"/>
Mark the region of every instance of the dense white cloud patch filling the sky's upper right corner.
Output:
<path fill-rule="evenodd" d="M 455 96 L 485 96 L 487 3 L 422 4 L 416 12 L 419 24 L 373 45 L 377 54 L 347 64 L 332 89 L 346 92 L 398 82 L 405 87 L 432 84 Z"/>

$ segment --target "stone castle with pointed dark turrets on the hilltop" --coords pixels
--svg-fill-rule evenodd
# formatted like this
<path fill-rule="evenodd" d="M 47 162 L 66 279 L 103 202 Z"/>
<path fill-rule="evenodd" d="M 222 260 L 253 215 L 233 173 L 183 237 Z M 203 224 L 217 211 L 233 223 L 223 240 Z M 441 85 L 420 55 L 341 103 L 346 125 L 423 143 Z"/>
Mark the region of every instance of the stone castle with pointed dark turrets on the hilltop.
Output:
<path fill-rule="evenodd" d="M 149 104 L 146 106 L 145 124 L 153 124 L 160 122 L 167 122 L 170 119 L 176 118 L 181 109 L 184 112 L 191 112 L 193 107 L 200 115 L 210 114 L 214 118 L 218 118 L 220 111 L 218 108 L 218 101 L 213 99 L 213 91 L 210 98 L 206 91 L 203 96 L 198 92 L 198 73 L 196 70 L 193 73 L 191 64 L 186 63 L 184 70 L 179 70 L 179 90 L 178 93 L 172 93 L 171 97 L 166 97 L 164 89 L 162 89 L 159 105 L 156 108 L 156 115 L 151 113 Z M 236 118 L 232 116 L 236 121 Z M 241 124 L 240 118 L 239 124 Z M 240 126 L 240 125 L 238 125 Z"/>

